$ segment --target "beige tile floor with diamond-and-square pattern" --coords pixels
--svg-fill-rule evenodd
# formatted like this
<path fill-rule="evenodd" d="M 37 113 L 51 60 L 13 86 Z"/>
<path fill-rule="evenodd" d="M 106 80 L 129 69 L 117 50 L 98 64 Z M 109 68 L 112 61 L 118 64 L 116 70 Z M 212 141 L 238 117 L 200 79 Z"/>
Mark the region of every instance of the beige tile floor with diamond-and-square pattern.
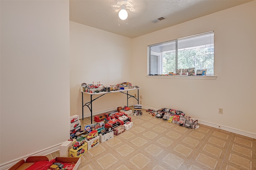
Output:
<path fill-rule="evenodd" d="M 256 170 L 256 139 L 206 125 L 188 129 L 145 109 L 131 117 L 133 127 L 88 150 L 78 170 Z"/>

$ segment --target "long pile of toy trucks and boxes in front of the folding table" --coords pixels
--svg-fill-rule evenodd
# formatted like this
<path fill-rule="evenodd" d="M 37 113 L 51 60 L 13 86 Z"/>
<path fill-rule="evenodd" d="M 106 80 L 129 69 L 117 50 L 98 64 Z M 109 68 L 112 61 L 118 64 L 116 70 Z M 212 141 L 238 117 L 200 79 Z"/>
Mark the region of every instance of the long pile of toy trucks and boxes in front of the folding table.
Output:
<path fill-rule="evenodd" d="M 60 146 L 60 156 L 80 157 L 88 150 L 120 135 L 133 125 L 129 107 L 118 107 L 118 111 L 102 113 L 94 117 L 97 123 L 85 125 L 81 130 L 78 115 L 70 116 L 70 139 Z"/>

